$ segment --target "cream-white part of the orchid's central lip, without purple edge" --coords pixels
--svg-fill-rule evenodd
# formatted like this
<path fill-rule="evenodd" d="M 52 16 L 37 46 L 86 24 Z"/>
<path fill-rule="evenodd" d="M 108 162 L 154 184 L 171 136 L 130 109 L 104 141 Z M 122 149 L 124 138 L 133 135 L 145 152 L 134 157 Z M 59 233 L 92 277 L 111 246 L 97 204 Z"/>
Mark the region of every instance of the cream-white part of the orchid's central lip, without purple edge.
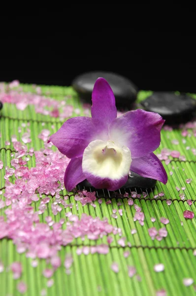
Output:
<path fill-rule="evenodd" d="M 128 147 L 112 141 L 95 140 L 84 150 L 82 170 L 84 174 L 119 180 L 128 176 L 131 161 Z"/>

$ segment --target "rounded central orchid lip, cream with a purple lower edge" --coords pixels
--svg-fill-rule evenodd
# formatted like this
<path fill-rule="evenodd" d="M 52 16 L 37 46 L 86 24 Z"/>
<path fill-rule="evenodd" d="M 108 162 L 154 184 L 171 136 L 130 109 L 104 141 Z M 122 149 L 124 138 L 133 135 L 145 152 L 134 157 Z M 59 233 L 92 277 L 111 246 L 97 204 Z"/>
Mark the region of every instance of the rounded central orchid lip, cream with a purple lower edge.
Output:
<path fill-rule="evenodd" d="M 83 153 L 83 173 L 96 188 L 120 188 L 128 180 L 130 165 L 130 149 L 111 141 L 93 141 Z"/>

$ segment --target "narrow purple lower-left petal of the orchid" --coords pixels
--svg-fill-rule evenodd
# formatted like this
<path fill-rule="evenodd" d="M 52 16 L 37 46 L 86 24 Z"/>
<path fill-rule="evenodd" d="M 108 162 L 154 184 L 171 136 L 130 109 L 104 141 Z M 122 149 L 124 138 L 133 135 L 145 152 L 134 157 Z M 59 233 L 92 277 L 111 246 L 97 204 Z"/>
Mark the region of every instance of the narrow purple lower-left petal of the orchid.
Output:
<path fill-rule="evenodd" d="M 66 168 L 64 183 L 67 191 L 71 191 L 78 183 L 86 177 L 82 172 L 82 157 L 72 158 Z"/>

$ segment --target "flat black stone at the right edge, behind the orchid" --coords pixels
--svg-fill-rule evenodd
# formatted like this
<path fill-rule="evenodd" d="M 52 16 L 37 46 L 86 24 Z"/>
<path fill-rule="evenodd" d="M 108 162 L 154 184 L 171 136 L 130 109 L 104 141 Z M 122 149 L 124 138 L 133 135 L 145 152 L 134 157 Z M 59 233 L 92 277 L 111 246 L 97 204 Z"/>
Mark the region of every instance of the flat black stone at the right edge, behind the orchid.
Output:
<path fill-rule="evenodd" d="M 186 122 L 194 116 L 196 100 L 186 94 L 176 95 L 170 92 L 154 92 L 141 102 L 146 111 L 159 113 L 166 123 Z"/>

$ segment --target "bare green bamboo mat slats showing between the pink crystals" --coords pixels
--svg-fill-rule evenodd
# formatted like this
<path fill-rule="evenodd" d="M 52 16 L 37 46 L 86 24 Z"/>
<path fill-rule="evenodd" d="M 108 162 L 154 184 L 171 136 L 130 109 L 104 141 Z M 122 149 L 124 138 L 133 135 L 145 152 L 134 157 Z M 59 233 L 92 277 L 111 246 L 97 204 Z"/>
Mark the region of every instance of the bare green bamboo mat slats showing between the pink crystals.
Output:
<path fill-rule="evenodd" d="M 32 85 L 21 85 L 23 91 L 34 92 Z M 79 108 L 81 115 L 83 115 L 82 105 L 76 93 L 71 87 L 58 86 L 41 86 L 42 95 L 51 96 L 56 100 L 65 100 L 66 104 L 74 106 L 74 109 Z M 138 102 L 143 100 L 149 92 L 140 92 L 138 95 Z M 73 116 L 76 116 L 73 113 Z M 31 138 L 32 143 L 27 144 L 28 148 L 33 147 L 34 150 L 43 148 L 43 142 L 38 139 L 43 128 L 48 129 L 51 133 L 57 131 L 63 121 L 58 118 L 53 118 L 48 115 L 36 114 L 33 106 L 28 106 L 25 111 L 19 111 L 15 105 L 4 104 L 2 117 L 0 118 L 0 160 L 3 161 L 3 169 L 0 170 L 0 190 L 4 193 L 4 174 L 6 163 L 10 161 L 10 154 L 14 150 L 12 144 L 7 148 L 5 141 L 10 140 L 13 134 L 17 135 L 18 140 L 21 141 L 21 135 L 26 131 L 21 124 L 29 122 L 29 128 L 33 131 Z M 43 123 L 45 125 L 43 126 Z M 52 129 L 52 125 L 54 129 Z M 21 133 L 18 133 L 18 127 L 21 127 Z M 179 144 L 176 145 L 172 140 L 177 140 Z M 188 148 L 187 148 L 188 147 Z M 109 246 L 109 253 L 107 255 L 89 254 L 85 256 L 76 254 L 76 249 L 79 246 L 93 246 L 95 241 L 90 241 L 85 238 L 75 239 L 69 246 L 62 247 L 60 257 L 64 262 L 65 254 L 71 253 L 73 257 L 73 265 L 71 267 L 71 274 L 65 273 L 65 267 L 62 266 L 54 273 L 54 285 L 50 288 L 46 287 L 47 279 L 42 275 L 42 270 L 46 266 L 45 260 L 39 260 L 36 268 L 31 265 L 31 259 L 26 258 L 25 254 L 18 254 L 16 248 L 11 240 L 0 240 L 0 260 L 3 262 L 5 269 L 0 273 L 0 296 L 18 296 L 16 286 L 19 280 L 13 280 L 12 273 L 6 269 L 13 261 L 21 261 L 23 265 L 23 273 L 21 279 L 24 280 L 28 286 L 28 290 L 24 295 L 38 296 L 40 291 L 46 289 L 48 296 L 117 296 L 117 295 L 133 295 L 133 296 L 154 296 L 157 291 L 164 289 L 167 296 L 185 296 L 195 295 L 195 287 L 191 285 L 186 287 L 183 284 L 184 278 L 193 278 L 196 284 L 196 256 L 194 250 L 196 249 L 196 218 L 186 220 L 183 217 L 185 210 L 192 210 L 196 217 L 196 205 L 190 207 L 186 200 L 196 200 L 196 156 L 192 148 L 196 148 L 196 138 L 186 137 L 186 144 L 182 142 L 181 130 L 162 130 L 162 143 L 156 153 L 160 153 L 163 148 L 178 150 L 186 157 L 186 161 L 171 160 L 168 165 L 163 165 L 168 175 L 168 183 L 163 185 L 158 182 L 154 190 L 146 191 L 143 195 L 141 190 L 137 193 L 141 194 L 140 198 L 133 198 L 134 203 L 141 207 L 145 215 L 144 225 L 141 226 L 138 221 L 134 222 L 133 217 L 135 210 L 128 205 L 127 197 L 114 198 L 112 194 L 108 194 L 105 190 L 101 193 L 97 192 L 98 197 L 102 199 L 99 204 L 95 201 L 96 208 L 91 205 L 82 207 L 78 203 L 78 211 L 76 211 L 76 201 L 74 200 L 73 192 L 69 193 L 68 201 L 73 203 L 72 213 L 78 214 L 79 218 L 82 213 L 91 215 L 92 217 L 99 217 L 103 219 L 108 218 L 108 222 L 114 226 L 122 229 L 123 236 L 126 237 L 125 247 L 119 246 L 117 243 L 119 236 L 113 236 L 114 240 Z M 54 148 L 55 149 L 55 148 Z M 29 167 L 35 166 L 35 158 L 31 157 L 28 162 Z M 170 172 L 173 174 L 170 175 Z M 190 184 L 186 184 L 186 179 L 193 179 Z M 10 178 L 11 182 L 14 179 Z M 175 187 L 179 188 L 185 186 L 185 199 L 181 200 L 179 193 Z M 163 196 L 154 198 L 164 192 Z M 3 193 L 0 198 L 3 200 Z M 66 190 L 60 192 L 67 194 Z M 124 194 L 125 191 L 120 191 Z M 131 192 L 130 192 L 131 194 Z M 44 197 L 45 195 L 43 195 Z M 45 217 L 51 214 L 51 201 L 47 204 L 48 213 L 40 215 L 40 219 L 44 222 Z M 106 204 L 106 201 L 111 199 L 111 204 Z M 171 200 L 171 205 L 167 205 L 166 200 Z M 121 202 L 121 206 L 117 203 Z M 33 203 L 33 206 L 38 206 L 40 201 Z M 122 209 L 123 216 L 118 215 L 118 219 L 111 218 L 112 209 Z M 61 218 L 65 218 L 65 212 L 70 209 L 64 209 L 61 213 L 54 217 L 58 222 Z M 0 209 L 0 215 L 4 215 L 4 209 Z M 151 217 L 156 218 L 156 222 L 151 222 Z M 160 218 L 165 217 L 169 219 L 169 224 L 163 225 Z M 65 218 L 65 221 L 66 218 Z M 183 225 L 182 225 L 183 222 Z M 156 227 L 157 229 L 164 227 L 168 231 L 168 235 L 162 241 L 152 240 L 148 234 L 148 228 Z M 137 233 L 131 234 L 131 229 L 136 229 Z M 127 244 L 131 243 L 131 247 Z M 97 243 L 107 244 L 106 238 L 99 239 Z M 123 253 L 130 251 L 130 256 L 125 258 Z M 119 272 L 115 273 L 111 270 L 112 262 L 119 264 Z M 155 272 L 154 265 L 157 263 L 164 264 L 163 272 Z M 128 266 L 135 266 L 137 275 L 132 278 L 128 276 Z M 20 280 L 21 280 L 20 279 Z"/>

